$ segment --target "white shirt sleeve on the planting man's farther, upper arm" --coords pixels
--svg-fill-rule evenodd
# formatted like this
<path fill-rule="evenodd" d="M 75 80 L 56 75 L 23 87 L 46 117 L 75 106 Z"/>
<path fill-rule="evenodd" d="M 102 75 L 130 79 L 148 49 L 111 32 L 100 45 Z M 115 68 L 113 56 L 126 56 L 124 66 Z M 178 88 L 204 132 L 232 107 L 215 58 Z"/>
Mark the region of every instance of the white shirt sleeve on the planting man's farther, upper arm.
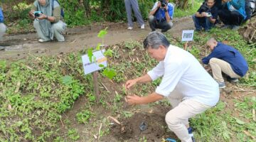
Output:
<path fill-rule="evenodd" d="M 161 77 L 164 75 L 164 62 L 159 62 L 158 65 L 156 65 L 156 67 L 154 67 L 152 70 L 150 70 L 149 72 L 147 72 L 147 74 L 149 75 L 149 77 L 151 77 L 151 80 L 156 80 L 157 78 Z"/>

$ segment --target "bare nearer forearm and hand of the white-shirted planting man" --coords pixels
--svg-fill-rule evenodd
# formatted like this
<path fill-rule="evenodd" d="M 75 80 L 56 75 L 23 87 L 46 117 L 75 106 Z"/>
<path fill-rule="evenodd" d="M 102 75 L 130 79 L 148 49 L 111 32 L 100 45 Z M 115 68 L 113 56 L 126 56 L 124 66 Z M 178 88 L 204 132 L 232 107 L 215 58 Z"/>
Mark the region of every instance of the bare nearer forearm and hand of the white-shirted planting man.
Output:
<path fill-rule="evenodd" d="M 164 96 L 157 94 L 156 92 L 149 94 L 146 97 L 139 97 L 137 95 L 127 96 L 128 104 L 148 104 L 150 102 L 156 102 L 159 99 L 163 99 Z"/>

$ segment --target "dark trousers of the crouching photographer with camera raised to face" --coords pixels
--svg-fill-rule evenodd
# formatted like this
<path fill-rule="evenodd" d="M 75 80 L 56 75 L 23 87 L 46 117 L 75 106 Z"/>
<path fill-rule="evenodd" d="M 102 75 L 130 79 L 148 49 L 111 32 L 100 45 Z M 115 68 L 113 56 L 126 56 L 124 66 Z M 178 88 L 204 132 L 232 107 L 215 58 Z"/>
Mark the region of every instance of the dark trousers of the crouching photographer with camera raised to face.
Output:
<path fill-rule="evenodd" d="M 156 28 L 160 28 L 161 32 L 166 32 L 168 31 L 172 26 L 173 23 L 171 21 L 156 21 L 156 17 L 154 16 L 149 16 L 149 26 L 152 31 L 155 31 Z"/>

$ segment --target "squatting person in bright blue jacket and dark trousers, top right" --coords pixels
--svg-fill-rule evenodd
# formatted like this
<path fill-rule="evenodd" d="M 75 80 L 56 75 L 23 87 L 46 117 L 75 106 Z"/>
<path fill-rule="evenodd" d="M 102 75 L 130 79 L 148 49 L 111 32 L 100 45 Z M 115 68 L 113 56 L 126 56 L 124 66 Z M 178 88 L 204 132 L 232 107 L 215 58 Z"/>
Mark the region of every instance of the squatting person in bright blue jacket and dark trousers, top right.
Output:
<path fill-rule="evenodd" d="M 237 30 L 246 19 L 245 0 L 222 0 L 223 9 L 218 11 L 220 20 L 225 26 L 223 28 L 232 28 Z"/>

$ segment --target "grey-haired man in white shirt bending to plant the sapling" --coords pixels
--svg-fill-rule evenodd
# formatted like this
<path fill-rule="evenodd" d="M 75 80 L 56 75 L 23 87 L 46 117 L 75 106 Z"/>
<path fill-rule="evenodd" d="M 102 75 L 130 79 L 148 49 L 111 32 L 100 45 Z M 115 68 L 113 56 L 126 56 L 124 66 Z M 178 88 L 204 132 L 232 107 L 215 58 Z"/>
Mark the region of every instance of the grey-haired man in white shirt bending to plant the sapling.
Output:
<path fill-rule="evenodd" d="M 162 33 L 149 33 L 144 48 L 159 64 L 146 75 L 128 80 L 125 87 L 130 89 L 134 84 L 151 82 L 159 77 L 162 77 L 161 84 L 145 97 L 127 96 L 128 104 L 147 104 L 168 97 L 174 109 L 166 114 L 166 124 L 181 141 L 193 141 L 188 119 L 217 104 L 220 97 L 218 83 L 191 53 L 170 45 Z"/>

